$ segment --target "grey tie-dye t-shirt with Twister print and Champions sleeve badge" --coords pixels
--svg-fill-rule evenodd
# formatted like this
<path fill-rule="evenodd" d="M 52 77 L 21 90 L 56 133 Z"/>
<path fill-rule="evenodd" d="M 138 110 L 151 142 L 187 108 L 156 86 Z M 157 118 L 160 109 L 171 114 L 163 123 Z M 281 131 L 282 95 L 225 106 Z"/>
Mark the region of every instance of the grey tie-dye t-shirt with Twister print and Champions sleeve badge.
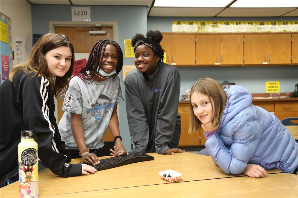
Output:
<path fill-rule="evenodd" d="M 78 149 L 72 136 L 70 113 L 81 114 L 86 146 L 89 149 L 98 149 L 104 146 L 102 138 L 115 104 L 123 101 L 120 78 L 117 75 L 90 84 L 77 76 L 72 78 L 62 107 L 65 112 L 58 126 L 65 148 Z"/>

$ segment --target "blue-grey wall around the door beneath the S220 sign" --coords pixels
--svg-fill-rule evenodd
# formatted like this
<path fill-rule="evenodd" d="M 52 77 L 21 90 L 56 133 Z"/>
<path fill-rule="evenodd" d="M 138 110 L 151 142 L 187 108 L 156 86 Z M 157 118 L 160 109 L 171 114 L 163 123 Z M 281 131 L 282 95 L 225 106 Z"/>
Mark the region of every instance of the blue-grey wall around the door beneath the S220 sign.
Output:
<path fill-rule="evenodd" d="M 49 21 L 71 21 L 70 5 L 32 4 L 32 32 L 45 34 L 49 32 Z M 144 6 L 88 6 L 91 10 L 91 21 L 116 21 L 117 41 L 124 53 L 124 39 L 132 38 L 136 33 L 147 31 L 147 10 Z M 91 51 L 91 49 L 90 49 Z M 133 58 L 124 58 L 124 65 L 134 65 Z M 122 79 L 122 72 L 119 74 Z M 120 81 L 125 100 L 125 87 Z M 119 127 L 122 142 L 130 150 L 130 135 L 126 116 L 125 102 L 119 105 Z"/>

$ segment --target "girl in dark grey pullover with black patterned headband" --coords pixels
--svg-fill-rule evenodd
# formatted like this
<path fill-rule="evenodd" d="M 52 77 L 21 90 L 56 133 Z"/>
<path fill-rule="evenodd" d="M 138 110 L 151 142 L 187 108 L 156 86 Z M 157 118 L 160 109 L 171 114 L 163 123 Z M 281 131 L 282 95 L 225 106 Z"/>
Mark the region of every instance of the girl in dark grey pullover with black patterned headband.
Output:
<path fill-rule="evenodd" d="M 126 111 L 135 153 L 175 154 L 181 121 L 178 111 L 180 74 L 163 61 L 160 31 L 132 38 L 136 69 L 125 78 Z M 130 151 L 131 153 L 132 151 Z"/>

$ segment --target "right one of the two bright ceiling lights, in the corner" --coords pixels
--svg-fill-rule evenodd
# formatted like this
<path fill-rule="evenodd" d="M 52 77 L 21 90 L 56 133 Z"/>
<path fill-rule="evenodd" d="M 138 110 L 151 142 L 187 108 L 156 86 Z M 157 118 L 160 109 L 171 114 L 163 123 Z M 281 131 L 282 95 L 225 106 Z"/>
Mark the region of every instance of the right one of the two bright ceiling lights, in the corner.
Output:
<path fill-rule="evenodd" d="M 230 7 L 298 7 L 297 0 L 237 0 Z"/>

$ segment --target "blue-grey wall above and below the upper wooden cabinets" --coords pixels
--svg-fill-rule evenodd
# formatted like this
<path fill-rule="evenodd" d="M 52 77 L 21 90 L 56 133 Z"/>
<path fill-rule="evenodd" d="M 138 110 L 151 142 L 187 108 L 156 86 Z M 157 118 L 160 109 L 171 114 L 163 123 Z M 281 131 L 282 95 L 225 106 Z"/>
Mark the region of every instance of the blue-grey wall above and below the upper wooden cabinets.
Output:
<path fill-rule="evenodd" d="M 173 21 L 297 21 L 296 17 L 148 17 L 147 29 L 172 32 Z M 247 88 L 251 93 L 265 93 L 266 81 L 280 81 L 280 92 L 293 92 L 298 82 L 298 66 L 264 67 L 179 67 L 180 94 L 190 89 L 199 78 L 210 77 L 219 82 L 230 81 Z"/>

